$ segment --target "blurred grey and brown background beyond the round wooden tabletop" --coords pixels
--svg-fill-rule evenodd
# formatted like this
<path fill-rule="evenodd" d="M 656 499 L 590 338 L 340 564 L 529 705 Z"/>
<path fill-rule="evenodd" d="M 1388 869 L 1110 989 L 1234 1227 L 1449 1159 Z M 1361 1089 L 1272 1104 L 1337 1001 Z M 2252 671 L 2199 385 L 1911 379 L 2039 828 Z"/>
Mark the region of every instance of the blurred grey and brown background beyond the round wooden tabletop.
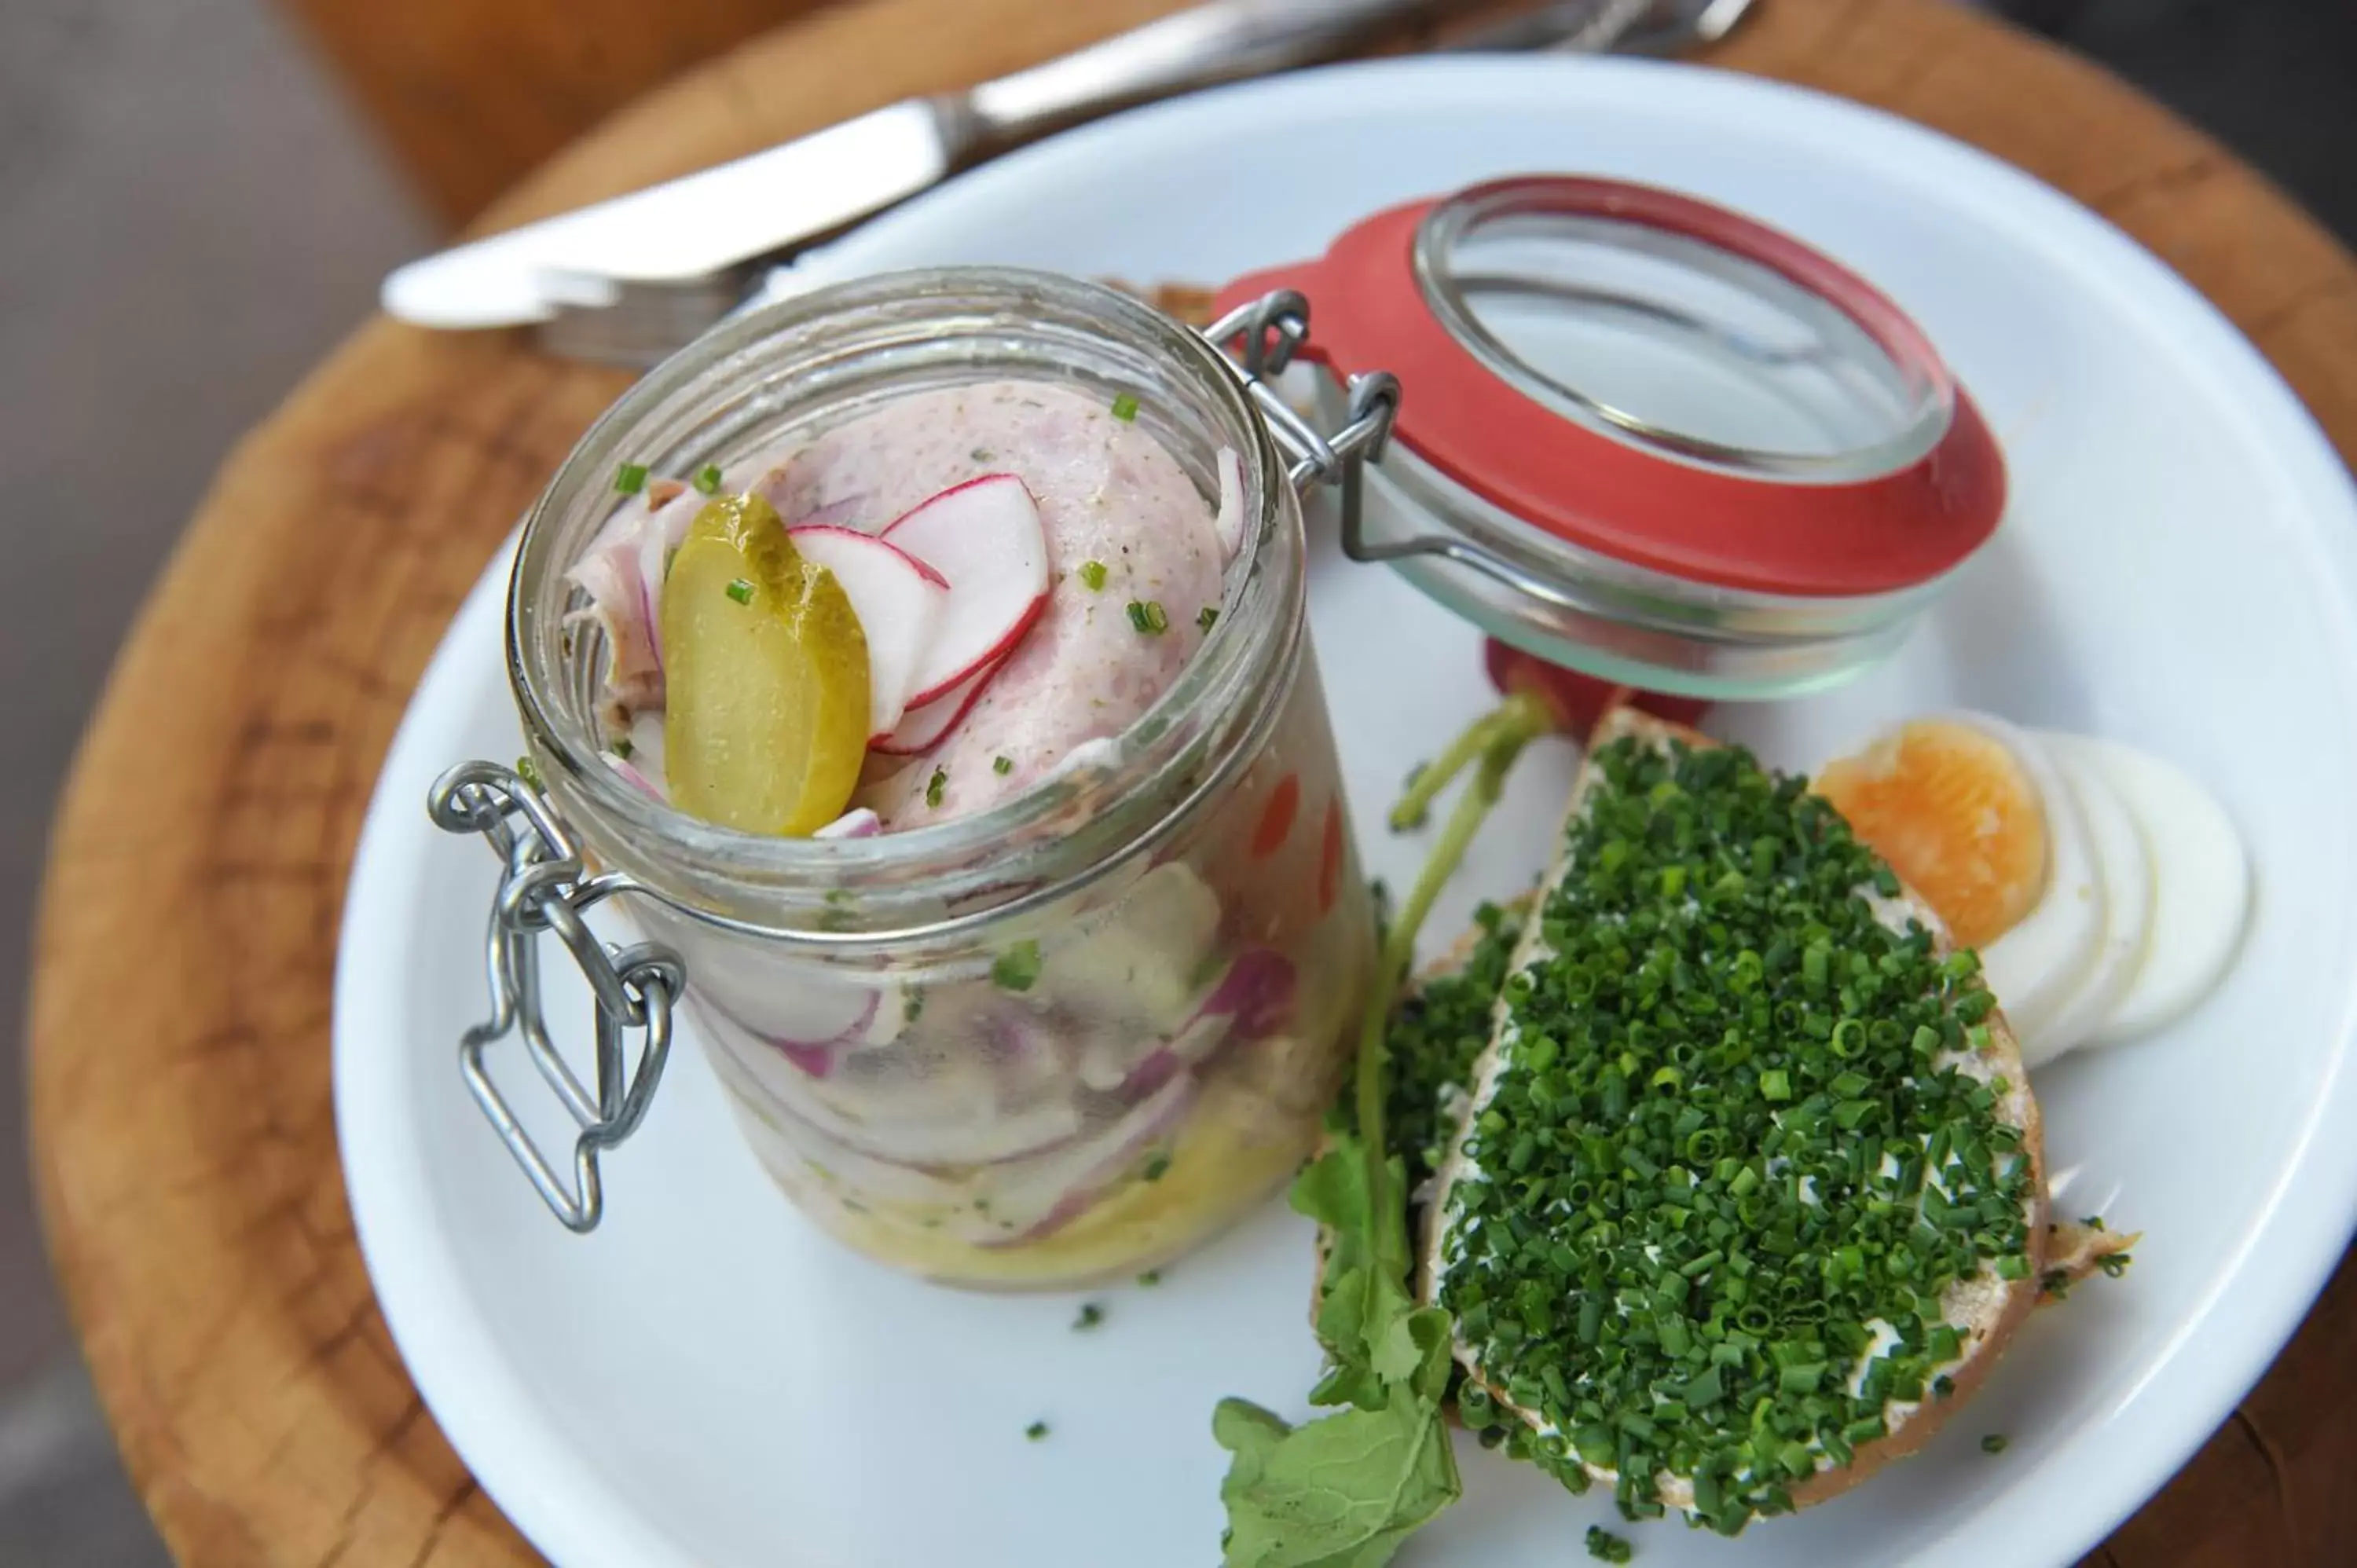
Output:
<path fill-rule="evenodd" d="M 16 762 L 0 773 L 5 1016 L 24 1016 L 49 806 L 82 717 L 226 448 L 372 309 L 391 264 L 610 108 L 816 2 L 0 0 L 0 495 L 16 552 L 0 618 L 40 672 L 12 681 Z M 2357 0 L 1992 9 L 2102 59 L 2357 243 Z M 0 1568 L 167 1561 L 49 1285 L 9 1054 Z"/>

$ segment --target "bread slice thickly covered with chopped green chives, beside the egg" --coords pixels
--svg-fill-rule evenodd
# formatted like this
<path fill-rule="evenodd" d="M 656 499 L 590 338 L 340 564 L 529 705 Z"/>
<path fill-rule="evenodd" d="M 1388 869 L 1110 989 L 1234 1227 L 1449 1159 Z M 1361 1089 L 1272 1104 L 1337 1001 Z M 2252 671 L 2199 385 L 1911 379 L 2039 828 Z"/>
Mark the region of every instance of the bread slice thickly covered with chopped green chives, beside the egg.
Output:
<path fill-rule="evenodd" d="M 2020 1047 L 1798 780 L 1598 726 L 1426 1203 L 1468 1427 L 1739 1530 L 1921 1448 L 2048 1271 Z"/>

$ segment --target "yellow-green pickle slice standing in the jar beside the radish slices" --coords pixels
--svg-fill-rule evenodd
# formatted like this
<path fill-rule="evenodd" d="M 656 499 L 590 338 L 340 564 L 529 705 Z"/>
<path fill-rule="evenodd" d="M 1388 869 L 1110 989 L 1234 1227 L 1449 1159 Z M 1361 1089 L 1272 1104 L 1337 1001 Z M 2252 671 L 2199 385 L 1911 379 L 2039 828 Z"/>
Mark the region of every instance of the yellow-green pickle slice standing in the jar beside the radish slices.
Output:
<path fill-rule="evenodd" d="M 662 580 L 672 804 L 724 828 L 825 828 L 867 757 L 867 634 L 759 495 L 695 514 Z"/>

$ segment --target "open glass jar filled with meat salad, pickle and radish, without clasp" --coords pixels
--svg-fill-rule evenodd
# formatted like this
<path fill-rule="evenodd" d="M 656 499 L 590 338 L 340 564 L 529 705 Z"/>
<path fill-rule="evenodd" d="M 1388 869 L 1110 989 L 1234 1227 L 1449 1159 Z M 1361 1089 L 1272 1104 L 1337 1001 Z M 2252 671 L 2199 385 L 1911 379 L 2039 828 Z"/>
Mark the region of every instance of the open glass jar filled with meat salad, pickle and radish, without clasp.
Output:
<path fill-rule="evenodd" d="M 775 1181 L 966 1285 L 1134 1273 L 1310 1151 L 1372 908 L 1242 380 L 903 274 L 632 389 L 526 523 L 530 771 Z"/>

